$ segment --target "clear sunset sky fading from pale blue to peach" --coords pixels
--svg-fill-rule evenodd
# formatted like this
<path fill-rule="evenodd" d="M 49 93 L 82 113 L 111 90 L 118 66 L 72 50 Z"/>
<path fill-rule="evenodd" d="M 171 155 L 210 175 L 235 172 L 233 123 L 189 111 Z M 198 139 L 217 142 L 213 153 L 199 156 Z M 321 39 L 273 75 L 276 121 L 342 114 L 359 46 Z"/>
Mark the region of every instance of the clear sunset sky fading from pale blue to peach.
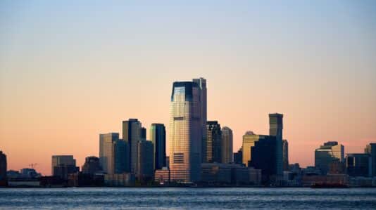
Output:
<path fill-rule="evenodd" d="M 376 142 L 376 3 L 0 1 L 8 169 L 49 175 L 51 155 L 82 166 L 129 118 L 168 130 L 173 81 L 198 77 L 234 151 L 279 112 L 290 163 L 313 165 L 329 140 L 363 152 Z"/>

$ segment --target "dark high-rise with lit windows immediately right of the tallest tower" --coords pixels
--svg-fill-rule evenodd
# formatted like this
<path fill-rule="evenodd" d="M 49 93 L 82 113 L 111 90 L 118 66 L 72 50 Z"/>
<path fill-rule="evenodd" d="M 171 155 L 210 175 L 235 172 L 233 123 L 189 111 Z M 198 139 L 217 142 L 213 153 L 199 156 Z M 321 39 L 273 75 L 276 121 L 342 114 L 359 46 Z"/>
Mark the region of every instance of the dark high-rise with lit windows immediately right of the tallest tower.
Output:
<path fill-rule="evenodd" d="M 222 162 L 222 136 L 218 121 L 206 122 L 206 143 L 203 144 L 202 155 L 204 162 Z"/>

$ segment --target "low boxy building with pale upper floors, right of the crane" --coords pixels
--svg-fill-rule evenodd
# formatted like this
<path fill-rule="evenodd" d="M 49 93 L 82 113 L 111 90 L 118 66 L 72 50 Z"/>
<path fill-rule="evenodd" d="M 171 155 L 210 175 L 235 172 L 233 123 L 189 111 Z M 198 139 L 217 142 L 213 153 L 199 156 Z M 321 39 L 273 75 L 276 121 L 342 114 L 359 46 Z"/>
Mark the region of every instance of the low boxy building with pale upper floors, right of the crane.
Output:
<path fill-rule="evenodd" d="M 76 166 L 73 155 L 53 155 L 51 161 L 51 171 L 53 176 L 68 179 L 70 173 L 76 173 L 80 169 Z"/>

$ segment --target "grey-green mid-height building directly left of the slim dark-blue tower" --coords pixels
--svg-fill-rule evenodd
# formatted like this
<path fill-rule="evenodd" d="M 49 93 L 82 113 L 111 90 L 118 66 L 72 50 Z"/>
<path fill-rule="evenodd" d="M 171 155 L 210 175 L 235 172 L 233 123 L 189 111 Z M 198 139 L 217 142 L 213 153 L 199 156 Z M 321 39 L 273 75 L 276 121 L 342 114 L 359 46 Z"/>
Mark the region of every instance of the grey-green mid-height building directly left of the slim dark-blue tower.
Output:
<path fill-rule="evenodd" d="M 153 143 L 150 140 L 140 140 L 137 143 L 137 173 L 139 181 L 149 181 L 153 178 Z"/>

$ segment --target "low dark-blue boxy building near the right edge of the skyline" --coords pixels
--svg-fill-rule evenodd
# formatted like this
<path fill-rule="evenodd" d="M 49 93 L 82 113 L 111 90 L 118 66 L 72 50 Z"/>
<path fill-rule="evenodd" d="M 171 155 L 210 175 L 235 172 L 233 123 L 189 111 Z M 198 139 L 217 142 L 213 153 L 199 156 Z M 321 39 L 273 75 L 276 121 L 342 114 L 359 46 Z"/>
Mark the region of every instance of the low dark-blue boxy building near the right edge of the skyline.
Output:
<path fill-rule="evenodd" d="M 346 171 L 349 176 L 372 176 L 372 157 L 370 154 L 352 153 L 346 156 Z"/>

